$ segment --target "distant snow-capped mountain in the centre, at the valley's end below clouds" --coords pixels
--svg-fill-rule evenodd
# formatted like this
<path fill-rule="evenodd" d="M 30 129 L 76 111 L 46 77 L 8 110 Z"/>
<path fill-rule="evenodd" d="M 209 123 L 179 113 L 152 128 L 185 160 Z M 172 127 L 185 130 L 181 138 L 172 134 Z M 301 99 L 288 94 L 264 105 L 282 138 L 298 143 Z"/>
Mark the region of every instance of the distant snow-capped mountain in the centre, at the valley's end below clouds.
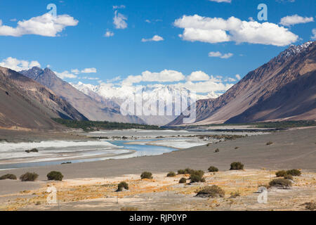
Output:
<path fill-rule="evenodd" d="M 111 101 L 114 105 L 116 104 L 119 106 L 126 100 L 131 101 L 132 98 L 133 100 L 142 99 L 142 101 L 136 103 L 136 108 L 143 108 L 142 111 L 146 111 L 147 113 L 138 113 L 137 116 L 147 122 L 147 124 L 157 125 L 164 125 L 174 120 L 179 115 L 177 114 L 177 109 L 180 108 L 180 112 L 186 109 L 187 105 L 181 105 L 183 104 L 180 101 L 181 97 L 188 96 L 190 98 L 195 98 L 195 100 L 218 97 L 213 91 L 207 96 L 203 96 L 194 94 L 188 89 L 174 86 L 172 84 L 112 86 L 112 84 L 105 83 L 92 85 L 78 82 L 78 84 L 72 84 L 72 86 L 97 101 L 103 100 L 107 101 L 107 103 Z M 162 113 L 162 103 L 164 104 L 164 113 Z M 136 110 L 134 110 L 133 113 L 136 113 Z M 129 112 L 130 115 L 133 115 L 133 113 L 131 114 L 131 112 Z"/>

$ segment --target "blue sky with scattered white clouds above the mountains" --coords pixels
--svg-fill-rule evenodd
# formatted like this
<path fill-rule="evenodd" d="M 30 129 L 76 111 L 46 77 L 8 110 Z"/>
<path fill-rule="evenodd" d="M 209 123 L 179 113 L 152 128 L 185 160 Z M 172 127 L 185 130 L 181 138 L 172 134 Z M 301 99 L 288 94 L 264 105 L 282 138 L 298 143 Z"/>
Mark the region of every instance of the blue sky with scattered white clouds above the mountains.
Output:
<path fill-rule="evenodd" d="M 316 36 L 312 34 L 316 28 L 315 0 L 217 1 L 0 1 L 0 65 L 16 70 L 38 63 L 41 68 L 49 65 L 67 82 L 94 85 L 109 83 L 115 77 L 120 79 L 112 81 L 113 85 L 124 81 L 129 85 L 178 84 L 191 79 L 192 85 L 186 87 L 197 89 L 199 85 L 193 84 L 207 82 L 208 75 L 210 82 L 224 86 L 220 90 L 210 84 L 209 91 L 223 93 L 238 81 L 235 75 L 244 77 L 289 44 L 302 44 Z M 261 3 L 268 6 L 268 21 L 258 21 L 257 6 Z M 60 20 L 71 21 L 67 25 L 62 22 L 61 31 L 55 27 L 44 34 L 43 27 L 32 27 L 36 26 L 32 18 L 48 13 L 48 4 L 57 6 L 57 16 L 67 15 Z M 228 18 L 232 16 L 240 23 L 255 20 L 276 27 L 270 34 L 271 29 L 265 27 L 258 31 L 264 34 L 251 37 L 251 30 L 223 28 L 230 26 Z M 214 18 L 225 23 L 216 28 L 223 39 L 214 27 L 209 28 L 217 26 Z M 17 23 L 22 20 L 31 21 L 19 30 Z M 110 37 L 105 37 L 106 32 Z M 224 41 L 225 37 L 229 40 Z M 192 72 L 199 74 L 188 78 Z M 132 83 L 126 81 L 128 76 Z M 164 77 L 171 79 L 159 82 Z"/>

